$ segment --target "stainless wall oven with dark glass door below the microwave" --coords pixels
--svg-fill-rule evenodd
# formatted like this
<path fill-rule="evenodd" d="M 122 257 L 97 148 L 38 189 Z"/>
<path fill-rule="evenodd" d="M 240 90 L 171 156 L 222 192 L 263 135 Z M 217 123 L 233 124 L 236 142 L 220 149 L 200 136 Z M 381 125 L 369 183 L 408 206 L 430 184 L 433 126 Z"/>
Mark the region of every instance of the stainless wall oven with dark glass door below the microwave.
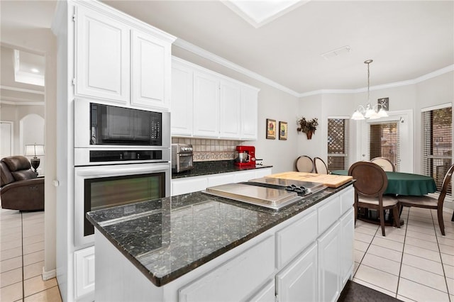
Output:
<path fill-rule="evenodd" d="M 74 167 L 74 245 L 94 242 L 94 227 L 85 213 L 123 205 L 133 212 L 134 203 L 170 196 L 170 178 L 169 162 Z"/>

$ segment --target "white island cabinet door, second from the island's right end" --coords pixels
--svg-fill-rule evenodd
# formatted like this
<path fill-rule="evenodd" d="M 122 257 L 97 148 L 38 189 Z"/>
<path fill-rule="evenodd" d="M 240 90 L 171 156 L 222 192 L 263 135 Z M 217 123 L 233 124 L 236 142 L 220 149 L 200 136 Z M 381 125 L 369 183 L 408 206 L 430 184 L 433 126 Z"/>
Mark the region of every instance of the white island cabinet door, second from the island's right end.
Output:
<path fill-rule="evenodd" d="M 317 241 L 319 245 L 319 301 L 336 301 L 340 294 L 339 223 L 336 222 Z"/>

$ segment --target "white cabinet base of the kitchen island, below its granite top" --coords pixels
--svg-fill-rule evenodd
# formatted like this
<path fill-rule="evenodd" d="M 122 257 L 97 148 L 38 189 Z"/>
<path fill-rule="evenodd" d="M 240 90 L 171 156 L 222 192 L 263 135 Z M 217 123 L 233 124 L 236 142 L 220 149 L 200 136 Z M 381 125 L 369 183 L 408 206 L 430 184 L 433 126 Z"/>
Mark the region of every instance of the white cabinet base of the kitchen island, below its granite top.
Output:
<path fill-rule="evenodd" d="M 353 186 L 160 287 L 96 230 L 96 301 L 336 301 L 353 273 L 354 220 L 353 208 L 332 210 L 348 196 L 353 204 Z M 172 223 L 184 223 L 189 233 L 191 228 L 204 227 L 184 220 L 184 211 L 172 215 Z M 243 215 L 240 208 L 228 212 L 222 204 L 217 208 L 201 204 L 190 211 L 200 216 L 206 211 L 218 213 L 223 226 L 214 235 L 223 233 L 223 228 L 238 232 L 243 228 L 236 223 Z M 321 231 L 319 225 L 325 225 L 319 220 L 333 223 Z"/>

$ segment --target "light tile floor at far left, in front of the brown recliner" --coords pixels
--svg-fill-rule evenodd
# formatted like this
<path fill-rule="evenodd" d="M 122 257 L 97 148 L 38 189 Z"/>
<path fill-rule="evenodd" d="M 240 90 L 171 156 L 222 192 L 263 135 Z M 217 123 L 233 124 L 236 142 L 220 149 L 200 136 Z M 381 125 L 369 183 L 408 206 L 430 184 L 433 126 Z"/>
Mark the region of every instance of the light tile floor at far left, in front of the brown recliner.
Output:
<path fill-rule="evenodd" d="M 0 301 L 62 301 L 43 266 L 44 212 L 0 209 Z"/>

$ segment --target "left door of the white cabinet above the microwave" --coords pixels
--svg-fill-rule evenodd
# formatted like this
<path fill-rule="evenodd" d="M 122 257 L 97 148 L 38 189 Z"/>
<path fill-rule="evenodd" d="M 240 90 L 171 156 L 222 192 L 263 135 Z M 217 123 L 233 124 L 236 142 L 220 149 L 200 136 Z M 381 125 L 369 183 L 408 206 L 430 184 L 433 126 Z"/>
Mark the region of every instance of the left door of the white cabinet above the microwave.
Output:
<path fill-rule="evenodd" d="M 130 97 L 130 30 L 77 7 L 75 94 L 126 103 Z"/>

